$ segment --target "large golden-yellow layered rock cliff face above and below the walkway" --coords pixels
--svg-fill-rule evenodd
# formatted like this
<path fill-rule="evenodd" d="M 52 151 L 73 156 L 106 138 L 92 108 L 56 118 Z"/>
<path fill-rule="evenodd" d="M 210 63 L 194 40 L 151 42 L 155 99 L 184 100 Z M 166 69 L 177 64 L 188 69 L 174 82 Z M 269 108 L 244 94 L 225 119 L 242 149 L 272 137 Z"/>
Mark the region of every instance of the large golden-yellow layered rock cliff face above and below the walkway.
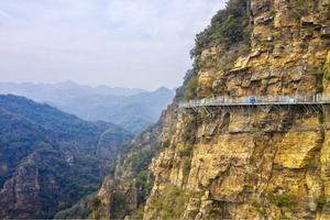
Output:
<path fill-rule="evenodd" d="M 329 0 L 233 0 L 219 14 L 197 38 L 186 98 L 329 91 Z M 237 14 L 250 24 L 230 38 Z M 210 110 L 178 114 L 144 219 L 330 218 L 328 107 Z"/>

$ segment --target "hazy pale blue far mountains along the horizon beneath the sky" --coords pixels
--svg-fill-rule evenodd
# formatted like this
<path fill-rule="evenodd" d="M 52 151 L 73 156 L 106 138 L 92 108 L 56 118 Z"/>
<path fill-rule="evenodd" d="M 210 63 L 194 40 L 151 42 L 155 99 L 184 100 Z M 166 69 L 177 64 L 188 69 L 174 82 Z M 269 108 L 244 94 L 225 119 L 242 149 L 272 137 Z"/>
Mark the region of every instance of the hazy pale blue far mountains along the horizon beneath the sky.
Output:
<path fill-rule="evenodd" d="M 164 87 L 146 91 L 136 88 L 89 87 L 73 81 L 0 82 L 0 94 L 24 96 L 85 120 L 112 122 L 133 134 L 155 123 L 174 97 L 174 91 Z"/>

